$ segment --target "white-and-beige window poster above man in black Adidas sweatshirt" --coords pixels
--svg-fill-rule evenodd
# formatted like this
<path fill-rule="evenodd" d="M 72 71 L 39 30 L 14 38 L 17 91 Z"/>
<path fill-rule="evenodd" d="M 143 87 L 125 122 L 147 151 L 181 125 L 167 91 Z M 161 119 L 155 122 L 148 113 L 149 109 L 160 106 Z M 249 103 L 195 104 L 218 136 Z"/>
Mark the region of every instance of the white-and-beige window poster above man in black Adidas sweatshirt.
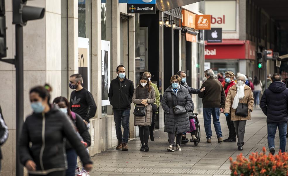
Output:
<path fill-rule="evenodd" d="M 78 37 L 78 73 L 82 75 L 82 86 L 90 91 L 89 38 Z"/>

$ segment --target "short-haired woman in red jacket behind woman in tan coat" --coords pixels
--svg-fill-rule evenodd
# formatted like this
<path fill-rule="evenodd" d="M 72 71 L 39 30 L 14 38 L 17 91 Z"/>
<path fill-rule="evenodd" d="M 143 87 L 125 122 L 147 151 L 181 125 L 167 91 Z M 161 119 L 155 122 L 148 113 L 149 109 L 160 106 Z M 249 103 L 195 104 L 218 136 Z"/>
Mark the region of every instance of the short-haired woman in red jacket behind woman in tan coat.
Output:
<path fill-rule="evenodd" d="M 234 82 L 234 73 L 232 71 L 227 71 L 225 73 L 225 86 L 224 86 L 224 91 L 225 91 L 225 95 L 227 98 L 227 94 L 229 89 L 236 85 L 236 83 Z M 231 120 L 231 111 L 229 112 L 229 115 L 226 117 L 226 122 L 227 122 L 227 126 L 229 129 L 229 137 L 227 139 L 224 139 L 224 142 L 236 142 L 236 131 L 234 128 L 234 124 L 233 121 Z"/>

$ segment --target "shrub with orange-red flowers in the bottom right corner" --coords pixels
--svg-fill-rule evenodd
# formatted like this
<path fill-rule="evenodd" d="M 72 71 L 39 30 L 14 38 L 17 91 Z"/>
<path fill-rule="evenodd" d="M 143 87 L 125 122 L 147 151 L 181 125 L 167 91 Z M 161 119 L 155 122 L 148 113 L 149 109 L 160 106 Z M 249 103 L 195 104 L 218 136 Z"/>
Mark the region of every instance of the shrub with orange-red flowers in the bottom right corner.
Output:
<path fill-rule="evenodd" d="M 236 161 L 230 157 L 231 176 L 288 176 L 288 153 L 279 152 L 278 155 L 266 155 L 263 153 L 252 153 L 249 159 L 242 153 L 237 156 Z"/>

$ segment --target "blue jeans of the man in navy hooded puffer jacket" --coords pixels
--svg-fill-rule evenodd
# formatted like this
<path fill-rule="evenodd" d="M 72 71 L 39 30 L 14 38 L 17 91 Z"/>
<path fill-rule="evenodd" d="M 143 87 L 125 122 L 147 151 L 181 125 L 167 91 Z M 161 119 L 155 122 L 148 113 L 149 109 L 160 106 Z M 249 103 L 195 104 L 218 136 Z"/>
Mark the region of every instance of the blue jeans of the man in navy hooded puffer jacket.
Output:
<path fill-rule="evenodd" d="M 279 131 L 279 139 L 280 139 L 280 147 L 279 149 L 282 152 L 285 152 L 286 147 L 286 133 L 287 133 L 287 123 L 279 123 L 279 124 L 267 124 L 267 131 L 268 131 L 268 147 L 271 149 L 272 147 L 275 148 L 275 134 L 278 127 Z"/>

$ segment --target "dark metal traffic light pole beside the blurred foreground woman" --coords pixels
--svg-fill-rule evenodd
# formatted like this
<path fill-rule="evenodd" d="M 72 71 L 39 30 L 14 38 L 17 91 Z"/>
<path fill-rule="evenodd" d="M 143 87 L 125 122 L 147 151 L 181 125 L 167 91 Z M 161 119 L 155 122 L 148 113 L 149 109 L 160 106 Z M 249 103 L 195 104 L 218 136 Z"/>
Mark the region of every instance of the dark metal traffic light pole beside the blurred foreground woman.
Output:
<path fill-rule="evenodd" d="M 16 35 L 16 176 L 23 176 L 23 165 L 20 163 L 19 158 L 19 138 L 22 131 L 22 125 L 24 123 L 24 97 L 23 97 L 23 26 L 20 24 L 15 25 Z"/>

